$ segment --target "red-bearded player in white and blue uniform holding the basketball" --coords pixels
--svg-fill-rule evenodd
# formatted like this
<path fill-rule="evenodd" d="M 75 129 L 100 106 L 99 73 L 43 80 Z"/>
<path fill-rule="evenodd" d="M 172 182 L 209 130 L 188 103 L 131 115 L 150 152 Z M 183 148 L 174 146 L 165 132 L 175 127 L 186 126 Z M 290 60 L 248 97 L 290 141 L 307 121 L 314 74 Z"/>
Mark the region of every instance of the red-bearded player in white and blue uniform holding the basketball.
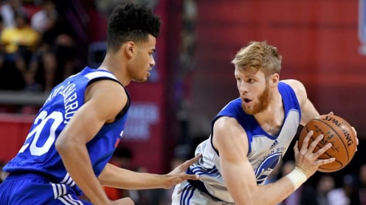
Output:
<path fill-rule="evenodd" d="M 319 116 L 297 80 L 280 81 L 281 56 L 266 42 L 251 42 L 232 63 L 240 97 L 229 102 L 212 120 L 211 135 L 197 146 L 202 158 L 188 169 L 200 175 L 175 186 L 172 204 L 276 204 L 334 158 L 318 159 L 331 147 L 313 153 L 322 139 L 294 146 L 296 166 L 275 183 L 265 180 L 276 167 L 299 124 Z"/>

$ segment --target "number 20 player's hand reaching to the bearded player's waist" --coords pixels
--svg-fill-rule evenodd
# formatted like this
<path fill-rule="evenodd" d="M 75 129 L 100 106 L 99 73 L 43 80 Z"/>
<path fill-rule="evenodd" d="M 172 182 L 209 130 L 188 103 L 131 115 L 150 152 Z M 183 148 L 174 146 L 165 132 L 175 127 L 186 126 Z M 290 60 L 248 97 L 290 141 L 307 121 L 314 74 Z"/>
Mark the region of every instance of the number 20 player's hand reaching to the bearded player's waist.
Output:
<path fill-rule="evenodd" d="M 186 170 L 189 168 L 189 166 L 193 165 L 193 163 L 196 162 L 201 157 L 202 155 L 199 154 L 194 158 L 188 159 L 187 161 L 176 167 L 169 174 L 164 175 L 168 179 L 168 184 L 164 188 L 169 189 L 173 185 L 179 184 L 184 180 L 198 180 L 199 175 L 189 175 L 186 173 Z"/>

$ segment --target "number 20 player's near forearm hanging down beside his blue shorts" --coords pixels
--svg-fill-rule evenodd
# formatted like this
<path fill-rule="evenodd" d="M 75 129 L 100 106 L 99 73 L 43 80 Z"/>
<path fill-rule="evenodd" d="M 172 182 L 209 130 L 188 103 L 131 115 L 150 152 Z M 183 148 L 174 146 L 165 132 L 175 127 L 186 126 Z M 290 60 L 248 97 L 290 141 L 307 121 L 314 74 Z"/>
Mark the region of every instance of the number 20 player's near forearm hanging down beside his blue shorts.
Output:
<path fill-rule="evenodd" d="M 95 204 L 109 204 L 110 200 L 93 172 L 86 146 L 65 143 L 64 146 L 57 146 L 57 151 L 71 178 L 84 194 Z"/>

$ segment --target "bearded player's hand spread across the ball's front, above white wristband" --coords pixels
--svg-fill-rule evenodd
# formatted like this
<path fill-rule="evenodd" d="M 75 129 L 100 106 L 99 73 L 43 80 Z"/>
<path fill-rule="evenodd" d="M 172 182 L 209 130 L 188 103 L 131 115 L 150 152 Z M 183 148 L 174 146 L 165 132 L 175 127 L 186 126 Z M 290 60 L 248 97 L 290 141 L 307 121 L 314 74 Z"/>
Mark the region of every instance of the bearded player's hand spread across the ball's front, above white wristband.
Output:
<path fill-rule="evenodd" d="M 320 155 L 322 155 L 326 150 L 331 147 L 331 144 L 328 143 L 317 152 L 314 152 L 314 148 L 317 144 L 323 139 L 323 135 L 319 135 L 309 146 L 309 140 L 313 136 L 314 132 L 310 131 L 307 136 L 304 138 L 300 150 L 298 149 L 298 141 L 294 146 L 295 151 L 295 163 L 301 171 L 307 175 L 309 178 L 312 176 L 318 169 L 319 166 L 325 165 L 326 163 L 333 162 L 335 160 L 334 157 L 328 159 L 318 159 Z"/>

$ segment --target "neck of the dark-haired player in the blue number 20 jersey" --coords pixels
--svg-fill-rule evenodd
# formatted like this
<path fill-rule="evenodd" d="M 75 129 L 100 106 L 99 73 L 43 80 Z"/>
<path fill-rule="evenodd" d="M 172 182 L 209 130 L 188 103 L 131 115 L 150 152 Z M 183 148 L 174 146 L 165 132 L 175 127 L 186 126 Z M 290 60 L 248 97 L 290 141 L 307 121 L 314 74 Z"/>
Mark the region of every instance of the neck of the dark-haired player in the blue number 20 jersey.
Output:
<path fill-rule="evenodd" d="M 127 86 L 130 84 L 131 78 L 127 73 L 127 61 L 123 59 L 118 53 L 107 53 L 98 69 L 112 72 L 123 86 Z"/>

